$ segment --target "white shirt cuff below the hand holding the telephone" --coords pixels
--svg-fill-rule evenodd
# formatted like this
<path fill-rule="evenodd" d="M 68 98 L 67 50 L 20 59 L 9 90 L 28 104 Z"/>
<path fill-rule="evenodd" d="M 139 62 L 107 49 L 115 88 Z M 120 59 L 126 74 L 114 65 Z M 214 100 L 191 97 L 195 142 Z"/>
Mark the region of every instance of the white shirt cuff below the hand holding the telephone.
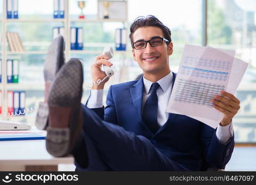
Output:
<path fill-rule="evenodd" d="M 101 108 L 103 106 L 103 89 L 91 89 L 86 106 L 89 109 Z"/>

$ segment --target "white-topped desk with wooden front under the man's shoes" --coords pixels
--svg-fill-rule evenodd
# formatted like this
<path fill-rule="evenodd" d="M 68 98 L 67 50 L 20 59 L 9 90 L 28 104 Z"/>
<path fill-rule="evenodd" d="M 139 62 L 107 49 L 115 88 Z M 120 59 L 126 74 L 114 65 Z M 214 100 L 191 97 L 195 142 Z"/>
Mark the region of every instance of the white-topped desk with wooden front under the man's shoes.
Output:
<path fill-rule="evenodd" d="M 0 141 L 0 171 L 57 171 L 67 163 L 74 163 L 73 157 L 52 157 L 44 139 Z"/>

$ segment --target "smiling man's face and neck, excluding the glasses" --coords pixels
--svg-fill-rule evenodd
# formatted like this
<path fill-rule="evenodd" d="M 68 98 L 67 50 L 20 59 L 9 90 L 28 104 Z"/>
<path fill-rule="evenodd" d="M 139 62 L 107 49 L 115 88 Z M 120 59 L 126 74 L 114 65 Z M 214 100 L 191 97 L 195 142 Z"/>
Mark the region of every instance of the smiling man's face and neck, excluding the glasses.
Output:
<path fill-rule="evenodd" d="M 149 41 L 155 36 L 164 38 L 163 31 L 159 27 L 141 27 L 133 33 L 133 42 L 144 40 Z M 173 52 L 173 44 L 167 45 L 165 41 L 161 46 L 152 47 L 147 43 L 144 49 L 133 49 L 133 58 L 138 62 L 139 67 L 147 74 L 167 74 L 170 72 L 169 55 Z"/>

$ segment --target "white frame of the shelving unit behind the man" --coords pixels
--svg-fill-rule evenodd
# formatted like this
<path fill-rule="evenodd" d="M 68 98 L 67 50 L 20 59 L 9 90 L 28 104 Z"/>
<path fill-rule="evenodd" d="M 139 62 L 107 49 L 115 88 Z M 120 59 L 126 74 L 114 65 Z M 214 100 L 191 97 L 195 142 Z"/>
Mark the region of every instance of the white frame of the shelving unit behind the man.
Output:
<path fill-rule="evenodd" d="M 97 0 L 97 3 L 99 4 L 101 0 Z M 120 22 L 123 23 L 123 27 L 127 28 L 128 27 L 128 0 L 123 0 L 122 2 L 125 3 L 126 6 L 126 19 L 70 19 L 70 3 L 76 3 L 76 1 L 73 0 L 65 0 L 64 1 L 64 10 L 65 10 L 65 19 L 38 19 L 38 20 L 26 20 L 26 19 L 6 19 L 6 0 L 2 1 L 2 20 L 0 20 L 2 24 L 2 41 L 1 41 L 1 57 L 2 57 L 2 83 L 0 84 L 0 88 L 2 91 L 2 97 L 1 97 L 1 102 L 2 102 L 2 114 L 7 115 L 7 91 L 9 89 L 21 89 L 21 90 L 41 90 L 43 91 L 44 85 L 40 84 L 35 84 L 35 85 L 27 85 L 27 84 L 7 84 L 7 63 L 6 60 L 8 59 L 9 55 L 30 55 L 30 54 L 35 54 L 35 55 L 46 55 L 47 51 L 23 51 L 23 52 L 12 52 L 8 51 L 8 43 L 7 43 L 7 38 L 6 38 L 6 33 L 7 33 L 7 25 L 8 23 L 62 23 L 64 27 L 64 38 L 65 38 L 65 59 L 68 61 L 70 59 L 70 55 L 75 55 L 75 54 L 101 54 L 101 51 L 95 51 L 95 50 L 83 50 L 83 51 L 76 51 L 76 50 L 70 50 L 70 25 L 73 23 L 108 23 L 108 22 Z M 110 0 L 109 2 L 115 2 Z M 116 1 L 120 2 L 120 1 Z M 23 1 L 20 1 L 19 3 L 25 3 Z M 52 2 L 53 4 L 53 2 Z M 52 12 L 53 14 L 53 12 Z M 79 14 L 79 12 L 78 12 Z M 99 12 L 97 12 L 99 14 Z M 53 16 L 53 15 L 52 15 Z M 96 16 L 98 17 L 98 16 Z M 85 29 L 84 29 L 84 34 L 85 34 Z M 126 31 L 126 38 L 128 40 L 128 31 Z M 21 38 L 22 39 L 22 38 Z M 84 44 L 85 48 L 85 44 Z M 118 54 L 126 54 L 126 51 L 115 51 Z M 20 74 L 22 71 L 19 72 Z M 42 72 L 43 73 L 43 72 Z M 26 105 L 27 106 L 27 105 Z M 25 115 L 26 116 L 26 115 Z M 1 119 L 6 119 L 6 117 L 0 117 Z M 17 120 L 15 118 L 14 120 Z"/>

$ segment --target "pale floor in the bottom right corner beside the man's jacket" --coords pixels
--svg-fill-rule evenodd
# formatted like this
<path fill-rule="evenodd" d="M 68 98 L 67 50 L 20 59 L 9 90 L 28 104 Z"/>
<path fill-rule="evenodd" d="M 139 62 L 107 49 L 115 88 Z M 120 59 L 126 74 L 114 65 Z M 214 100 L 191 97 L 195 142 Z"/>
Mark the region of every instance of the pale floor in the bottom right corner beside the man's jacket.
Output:
<path fill-rule="evenodd" d="M 256 171 L 256 147 L 235 147 L 226 171 Z"/>

